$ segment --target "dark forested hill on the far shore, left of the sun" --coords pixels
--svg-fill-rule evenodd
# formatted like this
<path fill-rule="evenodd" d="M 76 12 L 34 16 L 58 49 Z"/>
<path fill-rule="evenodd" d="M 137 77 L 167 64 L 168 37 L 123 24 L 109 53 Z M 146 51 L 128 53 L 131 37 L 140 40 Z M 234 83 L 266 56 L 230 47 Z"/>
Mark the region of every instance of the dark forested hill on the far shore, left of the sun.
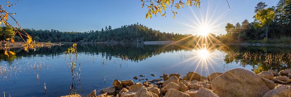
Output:
<path fill-rule="evenodd" d="M 124 25 L 116 29 L 113 29 L 111 26 L 106 26 L 105 29 L 102 28 L 100 31 L 91 30 L 88 32 L 60 32 L 58 30 L 34 29 L 24 29 L 24 31 L 31 35 L 33 40 L 38 42 L 132 43 L 143 41 L 177 41 L 192 35 L 160 32 L 139 23 Z M 14 40 L 21 41 L 21 38 L 16 35 Z"/>

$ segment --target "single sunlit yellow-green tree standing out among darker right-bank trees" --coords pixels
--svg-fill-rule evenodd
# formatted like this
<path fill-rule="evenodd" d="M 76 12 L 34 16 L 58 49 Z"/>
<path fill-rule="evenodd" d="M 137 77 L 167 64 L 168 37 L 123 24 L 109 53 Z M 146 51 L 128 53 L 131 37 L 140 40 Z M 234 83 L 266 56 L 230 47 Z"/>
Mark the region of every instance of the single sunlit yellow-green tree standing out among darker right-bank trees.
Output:
<path fill-rule="evenodd" d="M 268 39 L 268 30 L 269 30 L 268 27 L 270 23 L 273 21 L 273 19 L 275 18 L 274 9 L 267 8 L 267 9 L 260 10 L 256 14 L 255 17 L 259 21 L 259 23 L 256 23 L 255 28 L 264 27 L 266 39 Z"/>

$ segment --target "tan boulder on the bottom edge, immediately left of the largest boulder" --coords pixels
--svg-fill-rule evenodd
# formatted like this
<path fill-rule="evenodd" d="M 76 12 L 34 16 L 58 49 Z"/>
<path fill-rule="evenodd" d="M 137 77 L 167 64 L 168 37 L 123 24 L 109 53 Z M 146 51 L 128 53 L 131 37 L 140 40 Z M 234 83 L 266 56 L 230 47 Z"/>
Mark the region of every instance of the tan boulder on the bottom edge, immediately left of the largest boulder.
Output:
<path fill-rule="evenodd" d="M 219 97 L 219 96 L 207 88 L 200 88 L 197 91 L 195 97 Z"/>

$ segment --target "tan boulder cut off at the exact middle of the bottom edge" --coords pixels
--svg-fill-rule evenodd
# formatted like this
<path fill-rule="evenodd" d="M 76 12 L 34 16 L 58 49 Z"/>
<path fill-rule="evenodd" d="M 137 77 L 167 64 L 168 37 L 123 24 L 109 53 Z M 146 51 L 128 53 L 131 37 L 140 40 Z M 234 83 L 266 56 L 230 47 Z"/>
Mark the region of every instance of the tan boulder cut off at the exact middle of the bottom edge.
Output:
<path fill-rule="evenodd" d="M 146 87 L 141 87 L 133 97 L 158 97 L 158 95 L 148 91 Z"/>

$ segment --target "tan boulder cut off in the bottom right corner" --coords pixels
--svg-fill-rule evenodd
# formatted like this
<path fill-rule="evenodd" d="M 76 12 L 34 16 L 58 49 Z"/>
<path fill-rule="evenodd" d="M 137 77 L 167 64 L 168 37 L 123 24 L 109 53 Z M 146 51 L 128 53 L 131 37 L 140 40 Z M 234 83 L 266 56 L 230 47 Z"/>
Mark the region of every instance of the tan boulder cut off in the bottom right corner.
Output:
<path fill-rule="evenodd" d="M 278 85 L 275 89 L 268 91 L 263 97 L 291 97 L 291 86 Z"/>

